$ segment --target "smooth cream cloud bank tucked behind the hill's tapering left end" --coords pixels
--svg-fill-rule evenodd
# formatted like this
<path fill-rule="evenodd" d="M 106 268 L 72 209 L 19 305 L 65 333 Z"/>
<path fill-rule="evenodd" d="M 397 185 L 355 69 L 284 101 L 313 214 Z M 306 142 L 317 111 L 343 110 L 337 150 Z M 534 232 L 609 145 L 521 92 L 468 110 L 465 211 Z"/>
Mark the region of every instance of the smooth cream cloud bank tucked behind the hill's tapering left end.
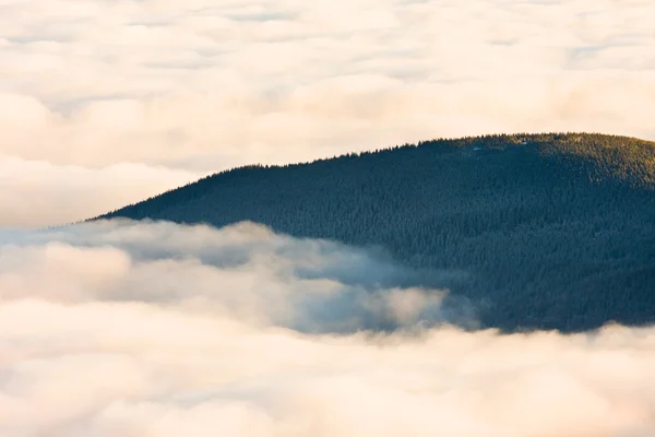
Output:
<path fill-rule="evenodd" d="M 203 174 L 116 164 L 104 168 L 0 158 L 0 227 L 63 224 L 104 214 Z"/>

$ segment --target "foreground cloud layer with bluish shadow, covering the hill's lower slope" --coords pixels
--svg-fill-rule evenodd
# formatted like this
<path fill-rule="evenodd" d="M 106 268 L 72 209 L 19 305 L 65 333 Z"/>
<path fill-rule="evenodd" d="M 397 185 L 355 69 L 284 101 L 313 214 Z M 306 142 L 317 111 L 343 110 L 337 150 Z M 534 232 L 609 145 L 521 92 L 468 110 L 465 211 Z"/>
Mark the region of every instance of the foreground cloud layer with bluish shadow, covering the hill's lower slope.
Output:
<path fill-rule="evenodd" d="M 426 324 L 445 291 L 383 255 L 252 224 L 0 237 L 2 436 L 655 433 L 650 328 Z"/>

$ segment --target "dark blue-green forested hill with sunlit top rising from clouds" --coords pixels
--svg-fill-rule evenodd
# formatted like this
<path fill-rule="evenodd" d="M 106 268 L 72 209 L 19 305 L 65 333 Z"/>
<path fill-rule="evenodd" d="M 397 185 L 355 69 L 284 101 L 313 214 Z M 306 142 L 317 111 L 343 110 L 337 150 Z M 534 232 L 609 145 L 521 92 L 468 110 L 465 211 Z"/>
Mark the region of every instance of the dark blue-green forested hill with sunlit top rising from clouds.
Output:
<path fill-rule="evenodd" d="M 104 217 L 116 216 L 381 245 L 464 272 L 431 285 L 466 296 L 485 327 L 655 321 L 655 143 L 632 138 L 488 135 L 249 166 Z"/>

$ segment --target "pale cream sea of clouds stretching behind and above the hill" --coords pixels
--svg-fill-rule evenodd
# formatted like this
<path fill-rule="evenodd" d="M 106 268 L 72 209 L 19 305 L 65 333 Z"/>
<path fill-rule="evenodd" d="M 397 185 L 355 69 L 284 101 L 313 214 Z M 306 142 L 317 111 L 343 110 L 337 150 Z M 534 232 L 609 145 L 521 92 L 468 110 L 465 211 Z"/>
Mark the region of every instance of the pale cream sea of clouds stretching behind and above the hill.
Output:
<path fill-rule="evenodd" d="M 22 176 L 0 225 L 434 137 L 655 139 L 654 21 L 648 0 L 3 0 L 0 175 Z"/>

